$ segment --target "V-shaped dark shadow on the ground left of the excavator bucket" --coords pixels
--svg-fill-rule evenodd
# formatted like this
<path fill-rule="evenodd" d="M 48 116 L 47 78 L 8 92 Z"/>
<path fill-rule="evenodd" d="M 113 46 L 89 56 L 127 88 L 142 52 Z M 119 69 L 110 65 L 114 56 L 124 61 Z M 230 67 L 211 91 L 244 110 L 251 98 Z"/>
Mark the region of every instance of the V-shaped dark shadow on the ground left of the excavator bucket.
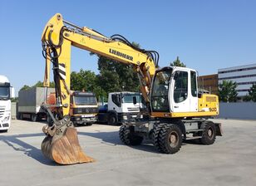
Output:
<path fill-rule="evenodd" d="M 56 166 L 58 164 L 54 163 L 51 159 L 47 159 L 42 154 L 41 149 L 37 149 L 36 147 L 32 146 L 31 144 L 27 144 L 22 141 L 22 138 L 27 137 L 38 137 L 38 136 L 45 136 L 42 133 L 37 134 L 22 134 L 22 135 L 0 135 L 0 141 L 7 144 L 12 149 L 22 152 L 23 154 L 27 155 L 32 159 L 36 159 L 41 164 L 46 164 L 50 166 Z M 17 147 L 19 146 L 19 147 Z"/>

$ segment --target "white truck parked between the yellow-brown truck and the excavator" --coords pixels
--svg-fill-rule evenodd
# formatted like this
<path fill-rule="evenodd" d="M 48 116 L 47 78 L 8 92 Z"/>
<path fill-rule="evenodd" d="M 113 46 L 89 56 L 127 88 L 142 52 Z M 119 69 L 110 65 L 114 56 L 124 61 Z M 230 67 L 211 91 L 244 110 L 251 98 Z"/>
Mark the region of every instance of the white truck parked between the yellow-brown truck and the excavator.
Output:
<path fill-rule="evenodd" d="M 98 120 L 107 122 L 108 125 L 129 122 L 142 117 L 139 115 L 142 106 L 142 96 L 139 92 L 111 92 L 107 104 L 99 108 Z"/>

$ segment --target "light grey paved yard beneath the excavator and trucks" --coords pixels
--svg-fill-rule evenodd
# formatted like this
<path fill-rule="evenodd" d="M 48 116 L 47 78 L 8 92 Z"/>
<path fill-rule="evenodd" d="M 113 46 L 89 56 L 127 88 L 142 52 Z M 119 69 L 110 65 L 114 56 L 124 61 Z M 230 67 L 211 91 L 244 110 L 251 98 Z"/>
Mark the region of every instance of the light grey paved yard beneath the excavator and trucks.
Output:
<path fill-rule="evenodd" d="M 256 185 L 256 121 L 214 121 L 224 136 L 212 145 L 183 143 L 176 154 L 160 154 L 149 141 L 126 146 L 119 126 L 77 127 L 96 162 L 63 166 L 41 152 L 44 123 L 12 120 L 0 133 L 0 185 Z"/>

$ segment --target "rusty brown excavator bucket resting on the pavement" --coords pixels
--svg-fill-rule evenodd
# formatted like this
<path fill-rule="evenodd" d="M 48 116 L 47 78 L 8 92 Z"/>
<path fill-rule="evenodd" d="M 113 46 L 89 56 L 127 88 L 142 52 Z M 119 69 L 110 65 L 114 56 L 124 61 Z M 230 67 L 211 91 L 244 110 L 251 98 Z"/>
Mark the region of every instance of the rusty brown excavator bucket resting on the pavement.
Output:
<path fill-rule="evenodd" d="M 57 164 L 82 164 L 95 160 L 84 154 L 76 129 L 68 127 L 61 137 L 47 135 L 41 144 L 42 153 Z"/>

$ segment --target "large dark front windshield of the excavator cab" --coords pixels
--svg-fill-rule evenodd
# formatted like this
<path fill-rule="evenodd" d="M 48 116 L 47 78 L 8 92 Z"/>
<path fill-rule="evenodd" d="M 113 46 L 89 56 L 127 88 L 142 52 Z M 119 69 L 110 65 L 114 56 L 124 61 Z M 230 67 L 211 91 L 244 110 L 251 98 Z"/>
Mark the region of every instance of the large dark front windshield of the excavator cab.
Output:
<path fill-rule="evenodd" d="M 153 111 L 169 112 L 168 92 L 170 86 L 171 69 L 158 71 L 155 74 L 151 92 L 151 106 Z"/>

